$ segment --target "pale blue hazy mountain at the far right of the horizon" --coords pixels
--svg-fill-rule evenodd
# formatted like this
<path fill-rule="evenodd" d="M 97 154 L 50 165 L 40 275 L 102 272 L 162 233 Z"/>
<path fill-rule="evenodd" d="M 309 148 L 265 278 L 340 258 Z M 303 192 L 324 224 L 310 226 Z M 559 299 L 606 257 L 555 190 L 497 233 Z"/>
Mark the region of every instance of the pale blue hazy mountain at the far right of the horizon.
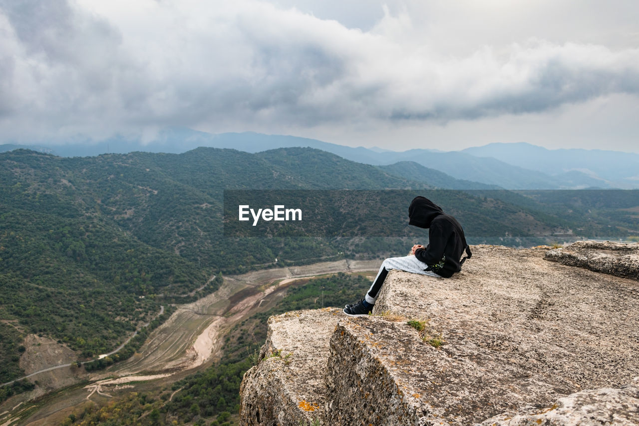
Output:
<path fill-rule="evenodd" d="M 590 177 L 591 185 L 638 186 L 639 154 L 606 150 L 557 149 L 549 150 L 529 143 L 491 143 L 489 145 L 466 148 L 466 154 L 476 157 L 493 157 L 500 161 L 541 171 L 548 175 L 571 173 L 573 178 L 585 181 Z M 566 176 L 566 175 L 564 175 Z"/>

